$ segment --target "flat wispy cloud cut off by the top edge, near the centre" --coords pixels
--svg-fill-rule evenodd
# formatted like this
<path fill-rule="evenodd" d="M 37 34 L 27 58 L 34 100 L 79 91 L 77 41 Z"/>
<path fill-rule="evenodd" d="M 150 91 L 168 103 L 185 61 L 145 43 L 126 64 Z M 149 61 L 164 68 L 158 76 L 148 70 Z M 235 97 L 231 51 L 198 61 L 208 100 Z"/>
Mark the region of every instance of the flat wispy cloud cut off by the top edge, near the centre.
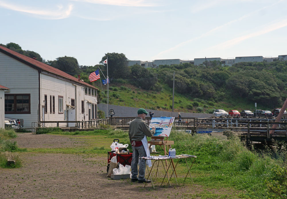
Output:
<path fill-rule="evenodd" d="M 133 7 L 154 7 L 159 6 L 156 3 L 149 3 L 144 0 L 73 0 L 83 1 L 87 3 L 103 4 L 103 5 L 117 5 L 117 6 L 133 6 Z"/>

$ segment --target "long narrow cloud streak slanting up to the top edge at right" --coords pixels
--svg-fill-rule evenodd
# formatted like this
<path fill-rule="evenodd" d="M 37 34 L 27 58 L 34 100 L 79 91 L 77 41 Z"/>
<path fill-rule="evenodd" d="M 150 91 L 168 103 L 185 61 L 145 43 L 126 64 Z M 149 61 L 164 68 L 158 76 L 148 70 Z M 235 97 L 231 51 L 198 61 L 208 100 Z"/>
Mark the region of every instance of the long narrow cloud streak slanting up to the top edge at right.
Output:
<path fill-rule="evenodd" d="M 274 6 L 274 5 L 278 4 L 278 3 L 280 3 L 281 1 L 283 1 L 283 0 L 280 0 L 280 1 L 278 1 L 278 2 L 276 2 L 276 3 L 274 3 L 274 4 L 272 4 L 272 5 L 265 6 L 265 7 L 262 7 L 262 8 L 260 8 L 260 9 L 255 10 L 255 11 L 252 11 L 252 12 L 250 12 L 250 13 L 247 13 L 247 14 L 245 14 L 245 15 L 239 17 L 238 19 L 231 20 L 230 22 L 227 22 L 227 23 L 225 23 L 225 24 L 223 24 L 223 25 L 221 25 L 221 26 L 217 26 L 216 28 L 213 28 L 213 29 L 209 30 L 208 32 L 205 32 L 205 33 L 201 34 L 200 36 L 197 36 L 197 37 L 194 37 L 194 38 L 189 39 L 189 40 L 187 40 L 187 41 L 181 42 L 181 43 L 175 45 L 174 47 L 171 47 L 171 48 L 169 48 L 169 49 L 167 49 L 167 50 L 165 50 L 165 51 L 162 51 L 162 52 L 158 53 L 157 55 L 154 56 L 154 58 L 157 58 L 157 57 L 159 57 L 160 55 L 162 55 L 162 54 L 164 54 L 164 53 L 168 53 L 168 52 L 170 52 L 170 51 L 172 51 L 172 50 L 175 50 L 175 49 L 177 49 L 177 48 L 179 48 L 179 47 L 181 47 L 181 46 L 183 46 L 183 45 L 185 45 L 185 44 L 187 44 L 187 43 L 189 43 L 189 42 L 192 42 L 192 41 L 201 39 L 201 38 L 203 38 L 203 37 L 205 37 L 205 36 L 209 36 L 209 35 L 211 35 L 213 32 L 215 32 L 216 30 L 222 29 L 222 28 L 224 28 L 225 26 L 229 26 L 230 24 L 233 24 L 233 23 L 235 23 L 235 22 L 239 22 L 239 21 L 241 21 L 241 20 L 243 20 L 243 19 L 245 19 L 245 18 L 248 18 L 248 17 L 252 16 L 254 13 L 257 13 L 257 12 L 263 10 L 263 9 L 268 8 L 268 7 L 272 7 L 272 6 Z"/>

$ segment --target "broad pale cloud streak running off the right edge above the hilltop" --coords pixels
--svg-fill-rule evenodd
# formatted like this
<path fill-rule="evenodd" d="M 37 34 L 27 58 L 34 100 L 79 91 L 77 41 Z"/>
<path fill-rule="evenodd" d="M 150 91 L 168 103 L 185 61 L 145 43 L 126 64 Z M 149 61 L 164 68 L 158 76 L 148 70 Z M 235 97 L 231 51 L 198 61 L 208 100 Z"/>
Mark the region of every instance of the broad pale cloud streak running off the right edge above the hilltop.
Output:
<path fill-rule="evenodd" d="M 231 46 L 234 46 L 244 40 L 247 40 L 249 38 L 252 38 L 252 37 L 256 37 L 256 36 L 260 36 L 260 35 L 263 35 L 263 34 L 266 34 L 268 32 L 272 32 L 274 30 L 278 30 L 280 28 L 283 28 L 287 26 L 287 19 L 283 19 L 283 20 L 280 20 L 280 21 L 277 21 L 277 22 L 271 22 L 270 24 L 265 24 L 265 28 L 259 30 L 259 31 L 256 31 L 256 32 L 252 32 L 250 34 L 247 34 L 247 35 L 243 35 L 243 36 L 240 36 L 240 37 L 236 37 L 234 39 L 230 39 L 226 42 L 223 42 L 221 44 L 218 44 L 216 46 L 213 46 L 213 47 L 210 47 L 208 49 L 226 49 L 226 48 L 229 48 Z"/>

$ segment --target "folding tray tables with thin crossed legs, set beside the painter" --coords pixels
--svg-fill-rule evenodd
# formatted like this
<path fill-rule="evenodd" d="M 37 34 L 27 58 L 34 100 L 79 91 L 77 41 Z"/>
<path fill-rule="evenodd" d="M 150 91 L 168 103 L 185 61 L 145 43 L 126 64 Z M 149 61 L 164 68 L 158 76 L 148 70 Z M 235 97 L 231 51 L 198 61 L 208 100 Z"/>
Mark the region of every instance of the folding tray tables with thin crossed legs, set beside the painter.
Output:
<path fill-rule="evenodd" d="M 162 162 L 162 166 L 163 166 L 164 172 L 165 172 L 165 175 L 164 175 L 164 178 L 163 178 L 163 180 L 162 180 L 162 183 L 164 182 L 165 177 L 168 176 L 168 169 L 169 169 L 169 168 L 172 169 L 172 174 L 170 175 L 170 177 L 167 177 L 168 183 L 169 183 L 169 185 L 171 186 L 171 184 L 170 184 L 170 179 L 171 179 L 172 175 L 174 176 L 174 179 L 175 179 L 175 181 L 177 182 L 177 178 L 176 178 L 176 176 L 175 176 L 174 173 L 175 173 L 175 169 L 176 169 L 176 167 L 177 167 L 177 164 L 178 164 L 179 160 L 180 160 L 180 159 L 183 159 L 183 158 L 185 159 L 185 163 L 186 163 L 186 166 L 187 166 L 187 169 L 188 169 L 188 172 L 187 172 L 187 174 L 186 174 L 186 176 L 185 176 L 185 179 L 187 178 L 187 175 L 189 174 L 189 175 L 190 175 L 190 178 L 191 178 L 191 181 L 192 181 L 192 183 L 193 183 L 193 180 L 192 180 L 192 177 L 191 177 L 191 174 L 190 174 L 190 169 L 191 169 L 191 167 L 192 167 L 192 165 L 193 165 L 193 163 L 194 163 L 194 161 L 195 161 L 195 158 L 197 158 L 197 157 L 194 156 L 194 155 L 186 155 L 186 156 L 184 156 L 184 155 L 177 155 L 175 158 L 170 158 L 170 157 L 163 157 L 163 158 L 158 158 L 158 157 L 155 157 L 155 158 L 140 157 L 140 158 L 141 158 L 141 159 L 144 159 L 144 160 L 154 160 L 154 163 L 152 164 L 152 168 L 150 169 L 150 171 L 149 171 L 148 165 L 147 165 L 147 163 L 146 163 L 146 168 L 148 169 L 148 177 L 147 177 L 146 179 L 148 180 L 148 178 L 150 177 L 150 180 L 151 180 L 151 182 L 152 182 L 152 186 L 153 186 L 153 187 L 154 187 L 154 183 L 153 183 L 153 181 L 152 181 L 152 176 L 151 176 L 150 174 L 152 173 L 152 169 L 154 168 L 154 164 L 155 164 L 157 161 L 161 161 L 161 162 Z M 193 162 L 192 162 L 192 164 L 191 164 L 190 167 L 189 167 L 188 164 L 187 164 L 187 160 L 186 160 L 187 158 L 193 158 Z M 165 169 L 163 160 L 164 160 L 164 161 L 165 161 L 165 160 L 169 160 L 169 165 L 168 165 L 168 168 L 167 168 L 167 169 Z M 172 160 L 174 160 L 174 161 L 177 160 L 177 163 L 176 163 L 176 165 L 175 165 L 174 168 L 173 168 L 173 167 L 170 167 L 170 165 L 172 164 Z M 156 164 L 156 165 L 157 165 L 157 164 Z M 185 179 L 184 179 L 184 181 L 185 181 Z M 162 183 L 161 183 L 160 186 L 162 186 Z M 178 183 L 177 183 L 177 185 L 178 185 Z M 146 187 L 146 183 L 145 183 L 144 187 Z"/>

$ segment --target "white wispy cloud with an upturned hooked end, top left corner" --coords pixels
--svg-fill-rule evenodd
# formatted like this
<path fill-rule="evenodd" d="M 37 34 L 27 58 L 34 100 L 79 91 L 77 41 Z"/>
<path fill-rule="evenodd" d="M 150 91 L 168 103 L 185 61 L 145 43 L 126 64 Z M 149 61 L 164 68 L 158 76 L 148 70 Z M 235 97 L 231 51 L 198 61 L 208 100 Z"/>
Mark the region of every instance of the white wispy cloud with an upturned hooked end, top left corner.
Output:
<path fill-rule="evenodd" d="M 6 3 L 4 1 L 0 1 L 0 7 L 5 9 L 29 13 L 32 15 L 36 15 L 38 17 L 43 17 L 46 19 L 64 19 L 68 18 L 71 15 L 71 11 L 73 10 L 73 5 L 69 5 L 67 9 L 63 9 L 63 6 L 58 6 L 57 10 L 41 10 L 38 8 L 25 7 L 22 5 L 15 5 L 11 3 Z"/>

